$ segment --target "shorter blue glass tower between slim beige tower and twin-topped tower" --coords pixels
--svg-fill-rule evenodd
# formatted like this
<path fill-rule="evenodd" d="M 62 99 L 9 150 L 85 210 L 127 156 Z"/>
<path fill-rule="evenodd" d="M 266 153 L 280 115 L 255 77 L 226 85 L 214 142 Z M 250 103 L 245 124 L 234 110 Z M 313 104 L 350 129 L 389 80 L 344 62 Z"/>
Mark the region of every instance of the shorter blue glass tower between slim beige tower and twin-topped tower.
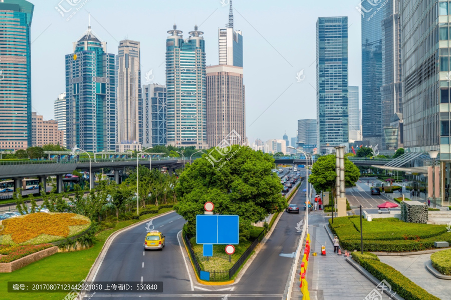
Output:
<path fill-rule="evenodd" d="M 167 144 L 166 86 L 142 86 L 144 147 Z"/>

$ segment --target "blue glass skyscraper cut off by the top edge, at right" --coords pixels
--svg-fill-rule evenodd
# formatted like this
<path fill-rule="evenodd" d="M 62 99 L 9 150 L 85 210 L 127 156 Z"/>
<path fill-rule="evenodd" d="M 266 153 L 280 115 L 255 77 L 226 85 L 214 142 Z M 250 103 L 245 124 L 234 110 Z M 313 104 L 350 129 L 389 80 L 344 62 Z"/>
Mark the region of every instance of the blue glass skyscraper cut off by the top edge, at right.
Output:
<path fill-rule="evenodd" d="M 382 146 L 382 20 L 386 5 L 362 1 L 362 128 L 363 139 Z M 371 17 L 370 17 L 371 16 Z"/>

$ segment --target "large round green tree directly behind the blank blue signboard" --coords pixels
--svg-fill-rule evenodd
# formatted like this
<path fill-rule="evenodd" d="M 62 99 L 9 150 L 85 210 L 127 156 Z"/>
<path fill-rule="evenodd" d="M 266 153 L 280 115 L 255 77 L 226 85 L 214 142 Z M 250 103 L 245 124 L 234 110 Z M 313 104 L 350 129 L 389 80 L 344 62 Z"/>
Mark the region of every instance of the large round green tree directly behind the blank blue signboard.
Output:
<path fill-rule="evenodd" d="M 195 233 L 196 214 L 203 214 L 207 201 L 214 203 L 215 213 L 239 215 L 242 232 L 287 206 L 280 178 L 271 171 L 271 155 L 239 145 L 227 150 L 228 154 L 213 151 L 214 159 L 194 160 L 180 174 L 174 209 L 188 221 L 190 234 Z"/>

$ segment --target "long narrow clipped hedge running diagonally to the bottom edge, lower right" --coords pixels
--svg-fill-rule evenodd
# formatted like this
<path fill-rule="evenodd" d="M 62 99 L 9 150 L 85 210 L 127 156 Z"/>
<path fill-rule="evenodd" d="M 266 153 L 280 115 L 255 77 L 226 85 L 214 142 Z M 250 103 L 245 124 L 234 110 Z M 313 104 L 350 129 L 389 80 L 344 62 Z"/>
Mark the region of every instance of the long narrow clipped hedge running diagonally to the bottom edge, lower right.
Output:
<path fill-rule="evenodd" d="M 409 278 L 393 267 L 379 261 L 379 258 L 368 252 L 351 252 L 352 258 L 363 268 L 379 280 L 386 280 L 392 290 L 408 300 L 440 300 L 428 293 L 424 288 L 416 285 Z"/>

